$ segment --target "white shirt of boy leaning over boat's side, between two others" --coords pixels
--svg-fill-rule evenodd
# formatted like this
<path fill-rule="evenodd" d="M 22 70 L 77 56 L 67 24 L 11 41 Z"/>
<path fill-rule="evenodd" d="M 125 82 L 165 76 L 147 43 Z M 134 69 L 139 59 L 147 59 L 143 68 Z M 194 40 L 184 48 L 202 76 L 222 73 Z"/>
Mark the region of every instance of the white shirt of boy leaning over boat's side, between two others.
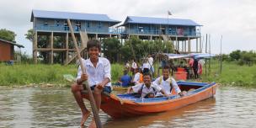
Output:
<path fill-rule="evenodd" d="M 150 88 L 147 88 L 146 85 L 144 85 L 144 83 L 136 84 L 135 86 L 132 86 L 131 88 L 132 88 L 134 93 L 139 93 L 139 91 L 142 88 L 141 98 L 144 98 L 147 95 L 147 93 L 157 93 L 157 92 L 160 92 L 161 89 L 162 89 L 159 86 L 156 86 L 156 85 L 153 85 L 153 84 L 151 84 Z M 155 91 L 154 91 L 153 88 L 155 89 Z"/>

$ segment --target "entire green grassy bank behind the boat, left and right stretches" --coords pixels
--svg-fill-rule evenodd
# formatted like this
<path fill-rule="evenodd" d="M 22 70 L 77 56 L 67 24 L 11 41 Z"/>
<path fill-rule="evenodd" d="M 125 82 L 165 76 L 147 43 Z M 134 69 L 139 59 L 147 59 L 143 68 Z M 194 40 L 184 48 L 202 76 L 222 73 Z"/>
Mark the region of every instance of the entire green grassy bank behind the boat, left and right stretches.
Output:
<path fill-rule="evenodd" d="M 211 73 L 207 70 L 207 75 L 205 75 L 204 70 L 202 81 L 216 82 L 226 85 L 256 87 L 255 65 L 253 67 L 248 67 L 238 66 L 236 63 L 223 62 L 221 73 L 219 66 L 218 61 L 211 61 Z M 116 82 L 118 80 L 118 77 L 122 75 L 122 70 L 123 65 L 111 64 L 112 81 Z M 77 67 L 75 65 L 20 64 L 6 66 L 0 64 L 0 86 L 28 85 L 31 83 L 70 84 L 64 80 L 63 74 L 72 74 L 72 76 L 76 76 Z"/>

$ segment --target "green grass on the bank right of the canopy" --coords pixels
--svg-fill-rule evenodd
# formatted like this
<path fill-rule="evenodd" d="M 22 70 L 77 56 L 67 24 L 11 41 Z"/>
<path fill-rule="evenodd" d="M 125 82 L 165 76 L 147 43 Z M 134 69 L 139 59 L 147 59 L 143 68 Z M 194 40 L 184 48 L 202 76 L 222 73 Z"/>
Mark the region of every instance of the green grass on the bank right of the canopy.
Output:
<path fill-rule="evenodd" d="M 207 70 L 207 75 L 202 76 L 204 82 L 216 82 L 224 85 L 235 85 L 256 87 L 256 66 L 237 65 L 234 61 L 223 61 L 222 71 L 220 72 L 219 61 L 211 61 L 211 73 Z M 208 67 L 208 66 L 207 66 Z"/>

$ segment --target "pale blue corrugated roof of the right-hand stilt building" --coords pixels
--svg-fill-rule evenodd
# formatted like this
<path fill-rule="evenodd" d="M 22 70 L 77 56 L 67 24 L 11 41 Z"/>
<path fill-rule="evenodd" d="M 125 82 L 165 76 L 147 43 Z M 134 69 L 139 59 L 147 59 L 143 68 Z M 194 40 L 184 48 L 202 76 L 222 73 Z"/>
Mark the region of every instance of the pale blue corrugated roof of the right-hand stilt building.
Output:
<path fill-rule="evenodd" d="M 124 24 L 169 24 L 169 25 L 183 25 L 183 26 L 201 26 L 191 19 L 163 19 L 150 17 L 136 17 L 128 16 Z"/>

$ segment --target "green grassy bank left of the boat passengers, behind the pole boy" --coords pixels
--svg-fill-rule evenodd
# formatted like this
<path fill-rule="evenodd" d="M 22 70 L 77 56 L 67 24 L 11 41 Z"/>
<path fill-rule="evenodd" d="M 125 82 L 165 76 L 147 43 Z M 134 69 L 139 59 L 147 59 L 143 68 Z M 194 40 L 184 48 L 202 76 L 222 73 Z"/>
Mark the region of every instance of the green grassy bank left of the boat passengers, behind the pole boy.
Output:
<path fill-rule="evenodd" d="M 118 77 L 122 75 L 122 72 L 120 72 L 122 69 L 123 66 L 120 64 L 111 65 L 113 81 L 117 81 Z M 6 66 L 0 64 L 0 86 L 40 83 L 70 84 L 63 78 L 64 74 L 72 74 L 75 77 L 77 75 L 77 67 L 75 65 L 18 64 Z"/>

